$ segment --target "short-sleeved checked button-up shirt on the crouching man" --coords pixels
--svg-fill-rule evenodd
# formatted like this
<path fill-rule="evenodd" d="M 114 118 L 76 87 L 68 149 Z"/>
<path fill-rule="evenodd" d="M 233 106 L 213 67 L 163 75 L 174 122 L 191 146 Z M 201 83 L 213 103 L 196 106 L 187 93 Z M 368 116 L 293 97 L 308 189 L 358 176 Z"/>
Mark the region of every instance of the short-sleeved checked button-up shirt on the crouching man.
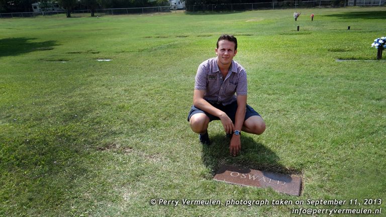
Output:
<path fill-rule="evenodd" d="M 200 64 L 196 74 L 195 89 L 205 90 L 204 99 L 212 103 L 227 105 L 236 100 L 236 95 L 247 95 L 247 73 L 232 60 L 228 74 L 223 75 L 217 65 L 217 57 Z"/>

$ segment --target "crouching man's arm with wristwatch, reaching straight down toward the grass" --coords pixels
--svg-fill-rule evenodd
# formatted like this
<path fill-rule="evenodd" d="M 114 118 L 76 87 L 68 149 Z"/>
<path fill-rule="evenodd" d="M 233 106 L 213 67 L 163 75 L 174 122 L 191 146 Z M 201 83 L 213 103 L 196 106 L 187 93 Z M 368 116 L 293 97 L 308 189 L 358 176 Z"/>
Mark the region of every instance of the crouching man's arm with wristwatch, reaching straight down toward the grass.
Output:
<path fill-rule="evenodd" d="M 235 130 L 241 131 L 244 124 L 245 111 L 247 106 L 247 95 L 237 95 L 237 111 L 235 117 Z M 231 155 L 236 156 L 241 150 L 240 135 L 233 135 L 231 144 L 229 146 L 229 152 Z"/>

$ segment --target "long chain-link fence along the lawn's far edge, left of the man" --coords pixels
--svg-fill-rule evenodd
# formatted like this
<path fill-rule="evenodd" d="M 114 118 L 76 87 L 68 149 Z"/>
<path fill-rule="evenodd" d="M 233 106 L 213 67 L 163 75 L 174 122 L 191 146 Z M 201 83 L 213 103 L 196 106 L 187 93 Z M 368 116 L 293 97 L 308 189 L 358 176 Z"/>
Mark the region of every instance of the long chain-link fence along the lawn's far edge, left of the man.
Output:
<path fill-rule="evenodd" d="M 146 13 L 165 13 L 170 12 L 169 6 L 146 7 L 146 8 L 120 8 L 120 9 L 96 9 L 94 16 L 104 15 L 129 15 L 129 14 L 146 14 Z M 90 10 L 75 10 L 71 12 L 71 17 L 88 17 Z M 0 13 L 0 18 L 23 18 L 45 16 L 47 18 L 66 16 L 65 11 L 57 12 L 23 12 L 23 13 Z"/>

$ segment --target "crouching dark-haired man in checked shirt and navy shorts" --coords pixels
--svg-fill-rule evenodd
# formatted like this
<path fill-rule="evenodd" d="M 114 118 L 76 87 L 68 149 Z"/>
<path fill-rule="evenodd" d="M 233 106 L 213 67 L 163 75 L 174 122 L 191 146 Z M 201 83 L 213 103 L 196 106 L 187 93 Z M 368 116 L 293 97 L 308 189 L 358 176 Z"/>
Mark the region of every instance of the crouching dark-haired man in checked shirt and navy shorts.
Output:
<path fill-rule="evenodd" d="M 231 138 L 230 154 L 236 156 L 241 150 L 240 132 L 260 135 L 265 131 L 265 122 L 247 104 L 247 73 L 233 61 L 237 39 L 232 35 L 220 36 L 215 51 L 217 57 L 204 61 L 197 70 L 187 121 L 191 130 L 199 134 L 200 142 L 209 145 L 209 122 L 221 120 Z"/>

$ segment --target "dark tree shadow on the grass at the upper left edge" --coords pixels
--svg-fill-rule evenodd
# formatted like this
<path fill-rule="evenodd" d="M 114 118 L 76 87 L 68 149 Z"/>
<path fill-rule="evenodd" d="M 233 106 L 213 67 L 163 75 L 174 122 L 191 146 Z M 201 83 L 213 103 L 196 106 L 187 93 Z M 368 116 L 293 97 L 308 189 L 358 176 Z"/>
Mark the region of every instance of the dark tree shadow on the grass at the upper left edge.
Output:
<path fill-rule="evenodd" d="M 0 57 L 17 56 L 33 51 L 45 51 L 54 49 L 56 41 L 32 42 L 36 38 L 5 38 L 0 39 Z"/>

